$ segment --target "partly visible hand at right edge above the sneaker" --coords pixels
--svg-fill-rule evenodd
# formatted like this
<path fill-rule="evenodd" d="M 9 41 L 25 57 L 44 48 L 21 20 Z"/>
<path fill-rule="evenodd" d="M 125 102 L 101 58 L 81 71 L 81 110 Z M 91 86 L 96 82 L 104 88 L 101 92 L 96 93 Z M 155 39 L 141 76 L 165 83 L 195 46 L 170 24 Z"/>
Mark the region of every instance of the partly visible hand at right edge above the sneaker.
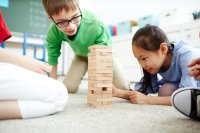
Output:
<path fill-rule="evenodd" d="M 189 75 L 191 77 L 194 77 L 196 80 L 200 80 L 200 68 L 195 67 L 195 65 L 200 64 L 200 58 L 192 60 L 190 64 L 188 64 L 188 67 L 192 67 Z"/>

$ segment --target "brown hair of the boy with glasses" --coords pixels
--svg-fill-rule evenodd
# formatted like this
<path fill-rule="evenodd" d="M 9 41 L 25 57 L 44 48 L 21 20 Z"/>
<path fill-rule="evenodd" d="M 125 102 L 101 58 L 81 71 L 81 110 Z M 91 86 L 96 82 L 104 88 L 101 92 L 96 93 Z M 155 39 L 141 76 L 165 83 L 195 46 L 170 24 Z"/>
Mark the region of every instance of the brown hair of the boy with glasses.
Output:
<path fill-rule="evenodd" d="M 51 17 L 59 14 L 63 9 L 66 12 L 75 11 L 79 8 L 78 0 L 42 0 L 46 13 Z"/>

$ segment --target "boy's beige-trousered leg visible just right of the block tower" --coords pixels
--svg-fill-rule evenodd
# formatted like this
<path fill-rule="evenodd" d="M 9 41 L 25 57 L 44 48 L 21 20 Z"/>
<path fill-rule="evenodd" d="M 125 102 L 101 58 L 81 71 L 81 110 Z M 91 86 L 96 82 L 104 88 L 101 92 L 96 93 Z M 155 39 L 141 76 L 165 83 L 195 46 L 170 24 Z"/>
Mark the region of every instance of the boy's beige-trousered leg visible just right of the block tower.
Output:
<path fill-rule="evenodd" d="M 113 84 L 119 89 L 130 89 L 123 68 L 116 58 L 114 58 Z"/>

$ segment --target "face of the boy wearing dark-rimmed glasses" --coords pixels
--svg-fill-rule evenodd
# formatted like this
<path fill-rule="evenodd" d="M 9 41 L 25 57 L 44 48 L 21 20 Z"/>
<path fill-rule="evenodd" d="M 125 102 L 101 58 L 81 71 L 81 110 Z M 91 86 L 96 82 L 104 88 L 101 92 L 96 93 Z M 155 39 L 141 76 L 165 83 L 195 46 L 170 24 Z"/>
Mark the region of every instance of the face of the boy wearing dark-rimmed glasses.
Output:
<path fill-rule="evenodd" d="M 63 9 L 59 14 L 53 15 L 52 19 L 60 31 L 68 36 L 72 36 L 77 32 L 81 17 L 82 15 L 79 9 L 76 11 L 70 10 L 69 12 Z"/>

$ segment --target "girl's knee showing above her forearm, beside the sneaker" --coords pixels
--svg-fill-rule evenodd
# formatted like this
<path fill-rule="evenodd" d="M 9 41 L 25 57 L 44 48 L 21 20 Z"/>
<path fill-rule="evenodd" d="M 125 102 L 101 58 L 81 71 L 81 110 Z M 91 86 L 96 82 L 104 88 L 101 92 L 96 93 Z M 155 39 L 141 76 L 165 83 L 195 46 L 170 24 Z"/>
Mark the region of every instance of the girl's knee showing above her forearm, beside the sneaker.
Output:
<path fill-rule="evenodd" d="M 174 84 L 166 83 L 158 90 L 158 96 L 171 96 L 176 89 Z"/>

